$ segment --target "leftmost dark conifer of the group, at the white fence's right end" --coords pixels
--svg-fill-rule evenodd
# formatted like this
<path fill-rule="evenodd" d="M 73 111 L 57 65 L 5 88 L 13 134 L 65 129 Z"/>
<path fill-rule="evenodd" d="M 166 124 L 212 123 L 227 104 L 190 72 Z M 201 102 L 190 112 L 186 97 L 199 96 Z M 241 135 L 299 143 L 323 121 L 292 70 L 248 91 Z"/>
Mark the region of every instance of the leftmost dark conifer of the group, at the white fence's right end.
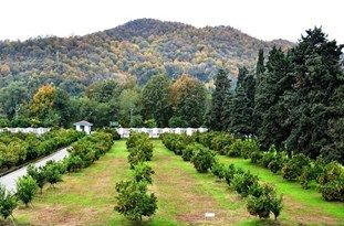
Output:
<path fill-rule="evenodd" d="M 230 79 L 225 69 L 219 69 L 215 78 L 215 87 L 208 127 L 212 130 L 226 130 L 230 118 L 228 108 L 230 108 L 231 93 Z"/>

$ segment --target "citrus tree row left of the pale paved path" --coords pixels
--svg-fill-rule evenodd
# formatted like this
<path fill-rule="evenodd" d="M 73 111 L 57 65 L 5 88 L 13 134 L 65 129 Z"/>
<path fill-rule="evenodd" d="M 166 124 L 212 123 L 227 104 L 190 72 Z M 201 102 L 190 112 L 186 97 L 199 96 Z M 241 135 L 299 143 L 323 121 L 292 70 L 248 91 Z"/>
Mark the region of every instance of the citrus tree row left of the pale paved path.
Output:
<path fill-rule="evenodd" d="M 48 155 L 84 136 L 73 129 L 54 129 L 45 134 L 0 133 L 0 171 Z"/>

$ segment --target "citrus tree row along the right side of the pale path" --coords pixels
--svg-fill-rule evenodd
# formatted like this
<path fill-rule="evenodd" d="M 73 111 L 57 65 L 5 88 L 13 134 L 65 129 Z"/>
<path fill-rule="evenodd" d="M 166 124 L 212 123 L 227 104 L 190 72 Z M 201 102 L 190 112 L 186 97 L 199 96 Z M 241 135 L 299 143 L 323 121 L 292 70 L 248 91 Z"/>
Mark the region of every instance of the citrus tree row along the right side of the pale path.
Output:
<path fill-rule="evenodd" d="M 0 214 L 7 219 L 12 216 L 19 201 L 28 206 L 38 191 L 41 193 L 45 184 L 54 186 L 62 181 L 64 173 L 76 172 L 91 165 L 105 154 L 113 144 L 113 134 L 97 131 L 74 142 L 69 149 L 70 155 L 60 162 L 49 161 L 44 166 L 28 166 L 28 174 L 17 182 L 17 192 L 12 193 L 0 185 Z M 12 217 L 13 219 L 13 217 Z"/>

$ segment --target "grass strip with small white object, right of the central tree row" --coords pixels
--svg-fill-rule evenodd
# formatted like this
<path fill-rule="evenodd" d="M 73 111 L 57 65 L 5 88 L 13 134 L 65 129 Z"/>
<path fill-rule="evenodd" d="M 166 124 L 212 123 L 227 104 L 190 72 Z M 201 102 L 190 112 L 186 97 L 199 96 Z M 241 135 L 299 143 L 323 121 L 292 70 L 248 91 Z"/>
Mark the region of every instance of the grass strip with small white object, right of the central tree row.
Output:
<path fill-rule="evenodd" d="M 154 146 L 153 191 L 159 207 L 156 217 L 174 218 L 177 225 L 233 225 L 250 217 L 244 203 L 228 192 L 225 183 L 217 182 L 211 174 L 197 173 L 160 140 L 154 140 Z M 206 212 L 216 213 L 215 219 L 206 220 Z"/>

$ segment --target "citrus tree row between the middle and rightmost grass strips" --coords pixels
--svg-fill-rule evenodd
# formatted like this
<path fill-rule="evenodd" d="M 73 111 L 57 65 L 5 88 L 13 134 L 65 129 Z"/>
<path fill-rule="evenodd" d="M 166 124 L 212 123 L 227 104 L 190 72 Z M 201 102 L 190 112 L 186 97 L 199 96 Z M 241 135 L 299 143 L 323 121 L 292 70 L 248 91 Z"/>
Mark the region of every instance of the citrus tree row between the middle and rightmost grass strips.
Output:
<path fill-rule="evenodd" d="M 225 179 L 227 184 L 242 197 L 247 197 L 247 209 L 251 215 L 268 218 L 272 213 L 274 218 L 282 209 L 282 196 L 269 184 L 259 182 L 258 176 L 249 171 L 225 166 L 216 159 L 216 152 L 196 143 L 192 137 L 186 134 L 165 133 L 160 136 L 167 149 L 190 161 L 199 173 L 211 171 L 218 179 Z"/>

